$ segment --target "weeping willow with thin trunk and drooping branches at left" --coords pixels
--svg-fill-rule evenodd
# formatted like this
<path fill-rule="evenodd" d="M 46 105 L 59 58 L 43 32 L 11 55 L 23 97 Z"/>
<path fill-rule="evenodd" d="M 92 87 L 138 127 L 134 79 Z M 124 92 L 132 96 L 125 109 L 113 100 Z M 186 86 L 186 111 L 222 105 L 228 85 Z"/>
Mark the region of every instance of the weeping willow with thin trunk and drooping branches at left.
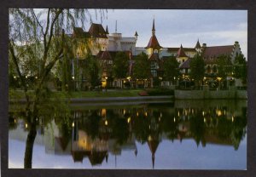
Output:
<path fill-rule="evenodd" d="M 96 18 L 100 14 L 102 20 L 105 13 L 106 10 L 96 10 Z M 25 168 L 32 168 L 38 105 L 49 95 L 45 94 L 47 83 L 55 74 L 56 64 L 68 68 L 68 59 L 75 56 L 75 41 L 66 34 L 71 33 L 74 26 L 84 28 L 84 23 L 91 19 L 88 9 L 9 9 L 9 70 L 13 70 L 11 73 L 24 91 L 26 115 L 31 123 L 26 139 Z M 32 94 L 28 94 L 28 76 L 36 78 Z"/>

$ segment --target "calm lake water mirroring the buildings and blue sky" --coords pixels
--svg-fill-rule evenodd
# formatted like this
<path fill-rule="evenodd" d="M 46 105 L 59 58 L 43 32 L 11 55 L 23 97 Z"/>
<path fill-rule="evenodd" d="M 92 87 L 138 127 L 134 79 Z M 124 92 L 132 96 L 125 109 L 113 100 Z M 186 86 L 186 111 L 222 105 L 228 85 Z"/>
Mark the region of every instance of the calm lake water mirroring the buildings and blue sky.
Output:
<path fill-rule="evenodd" d="M 17 110 L 9 168 L 247 168 L 246 100 L 45 108 L 36 123 Z"/>

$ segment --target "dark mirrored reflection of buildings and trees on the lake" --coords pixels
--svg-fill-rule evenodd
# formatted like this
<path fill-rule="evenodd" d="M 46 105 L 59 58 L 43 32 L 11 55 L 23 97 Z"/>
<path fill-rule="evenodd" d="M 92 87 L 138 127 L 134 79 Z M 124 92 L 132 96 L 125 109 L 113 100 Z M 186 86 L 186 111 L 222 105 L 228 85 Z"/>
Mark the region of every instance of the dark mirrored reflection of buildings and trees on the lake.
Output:
<path fill-rule="evenodd" d="M 138 146 L 148 146 L 151 168 L 154 168 L 155 161 L 170 158 L 156 158 L 156 153 L 163 151 L 158 150 L 163 141 L 173 143 L 179 140 L 183 144 L 183 140 L 194 140 L 194 146 L 201 145 L 205 149 L 207 144 L 217 145 L 219 150 L 222 146 L 233 146 L 236 153 L 246 136 L 246 128 L 246 101 L 176 101 L 174 106 L 158 104 L 90 109 L 78 106 L 67 111 L 47 112 L 47 115 L 38 116 L 35 122 L 31 122 L 22 111 L 9 111 L 9 140 L 26 141 L 25 168 L 32 168 L 32 162 L 37 161 L 32 159 L 37 134 L 40 140 L 35 143 L 45 146 L 45 154 L 72 156 L 73 163 L 83 163 L 87 159 L 91 168 L 107 167 L 109 157 L 114 157 L 116 167 L 117 157 L 122 157 L 122 151 L 133 151 L 137 157 L 142 153 Z M 165 151 L 168 154 L 168 148 Z M 125 164 L 125 168 L 132 167 L 132 164 Z"/>

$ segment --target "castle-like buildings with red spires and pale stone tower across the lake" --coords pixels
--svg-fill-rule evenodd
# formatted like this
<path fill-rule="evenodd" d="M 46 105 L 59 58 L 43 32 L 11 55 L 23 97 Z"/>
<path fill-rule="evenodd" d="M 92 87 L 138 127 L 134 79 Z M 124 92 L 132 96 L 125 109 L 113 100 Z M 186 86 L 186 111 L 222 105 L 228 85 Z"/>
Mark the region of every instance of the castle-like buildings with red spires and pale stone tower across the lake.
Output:
<path fill-rule="evenodd" d="M 75 27 L 73 29 L 72 37 L 77 39 L 77 44 L 74 45 L 77 60 L 85 59 L 86 54 L 89 53 L 97 60 L 100 60 L 102 81 L 106 83 L 107 78 L 112 76 L 113 60 L 117 52 L 125 52 L 129 55 L 129 67 L 124 68 L 124 70 L 127 70 L 129 76 L 132 76 L 133 66 L 136 65 L 133 58 L 141 53 L 148 55 L 152 78 L 151 81 L 148 81 L 148 84 L 144 85 L 146 87 L 153 86 L 154 78 L 162 78 L 162 66 L 164 65 L 164 59 L 168 56 L 175 56 L 180 64 L 179 69 L 181 74 L 188 76 L 190 72 L 189 64 L 191 59 L 195 54 L 201 54 L 206 63 L 206 74 L 213 76 L 218 73 L 218 66 L 216 62 L 218 56 L 223 54 L 228 55 L 230 56 L 231 62 L 234 62 L 236 55 L 241 54 L 238 42 L 235 42 L 234 45 L 207 47 L 206 43 L 201 45 L 199 40 L 197 40 L 195 48 L 183 48 L 182 44 L 179 48 L 164 48 L 160 45 L 156 37 L 154 20 L 152 36 L 149 38 L 148 45 L 146 47 L 137 47 L 137 31 L 133 37 L 123 37 L 122 33 L 117 31 L 117 22 L 113 33 L 108 32 L 108 26 L 106 26 L 105 30 L 101 24 L 92 23 L 89 31 L 84 31 L 82 28 Z M 88 42 L 86 45 L 84 40 Z M 110 85 L 114 87 L 123 87 L 125 78 L 120 82 L 121 83 L 114 81 L 114 78 L 112 78 Z"/>

